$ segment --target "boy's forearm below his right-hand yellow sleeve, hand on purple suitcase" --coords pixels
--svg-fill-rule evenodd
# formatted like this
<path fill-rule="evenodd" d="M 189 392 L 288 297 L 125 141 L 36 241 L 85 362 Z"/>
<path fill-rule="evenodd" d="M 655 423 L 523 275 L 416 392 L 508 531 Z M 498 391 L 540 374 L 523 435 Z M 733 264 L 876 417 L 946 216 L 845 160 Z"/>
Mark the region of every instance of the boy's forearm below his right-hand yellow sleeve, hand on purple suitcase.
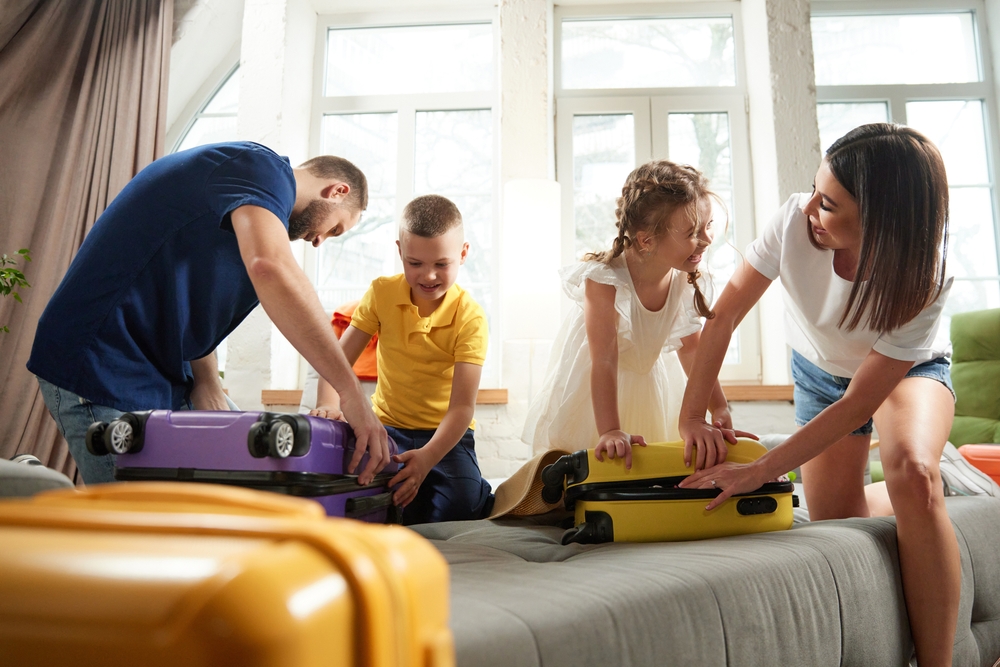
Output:
<path fill-rule="evenodd" d="M 441 425 L 437 427 L 426 445 L 394 457 L 398 462 L 406 464 L 389 481 L 390 486 L 399 484 L 393 496 L 393 501 L 397 505 L 406 506 L 417 497 L 417 491 L 430 469 L 437 465 L 438 461 L 443 459 L 469 430 L 469 424 L 472 423 L 476 411 L 476 396 L 479 393 L 479 379 L 482 374 L 482 366 L 456 363 L 455 374 L 451 380 L 451 401 L 448 403 L 448 412 L 441 420 Z"/>

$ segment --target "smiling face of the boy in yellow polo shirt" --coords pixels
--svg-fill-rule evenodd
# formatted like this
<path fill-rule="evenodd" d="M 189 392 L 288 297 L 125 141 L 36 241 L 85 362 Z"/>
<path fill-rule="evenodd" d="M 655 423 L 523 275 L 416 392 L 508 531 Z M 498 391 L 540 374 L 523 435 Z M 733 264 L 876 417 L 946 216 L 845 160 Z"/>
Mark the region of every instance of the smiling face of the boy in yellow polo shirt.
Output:
<path fill-rule="evenodd" d="M 458 279 L 458 267 L 465 263 L 469 253 L 461 225 L 434 238 L 403 229 L 396 245 L 403 260 L 403 275 L 410 286 L 410 298 L 417 306 L 421 302 L 436 306 L 444 298 L 444 293 Z"/>

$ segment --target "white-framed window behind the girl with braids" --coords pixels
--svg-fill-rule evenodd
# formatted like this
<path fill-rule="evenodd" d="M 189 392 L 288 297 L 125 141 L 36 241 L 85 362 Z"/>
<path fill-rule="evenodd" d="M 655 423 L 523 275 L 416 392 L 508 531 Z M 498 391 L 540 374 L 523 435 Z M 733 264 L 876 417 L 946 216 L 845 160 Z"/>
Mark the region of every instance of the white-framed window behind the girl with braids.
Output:
<path fill-rule="evenodd" d="M 622 184 L 654 158 L 697 167 L 725 204 L 708 257 L 716 296 L 742 261 L 754 228 L 739 5 L 711 8 L 627 17 L 557 8 L 557 167 L 572 239 L 563 263 L 611 247 Z M 723 379 L 760 379 L 757 327 L 754 311 L 732 338 Z"/>

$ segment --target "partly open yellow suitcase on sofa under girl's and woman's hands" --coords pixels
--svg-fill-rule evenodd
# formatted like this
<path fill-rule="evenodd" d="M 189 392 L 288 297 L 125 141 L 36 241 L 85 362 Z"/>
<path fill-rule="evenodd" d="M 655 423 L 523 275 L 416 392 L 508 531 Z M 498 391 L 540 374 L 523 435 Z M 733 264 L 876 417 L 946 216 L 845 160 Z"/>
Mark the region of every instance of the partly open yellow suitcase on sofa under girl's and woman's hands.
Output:
<path fill-rule="evenodd" d="M 766 451 L 740 438 L 726 460 L 749 463 Z M 798 505 L 791 482 L 769 482 L 706 512 L 720 492 L 677 488 L 692 472 L 684 466 L 683 442 L 633 447 L 631 470 L 623 459 L 598 461 L 594 450 L 580 450 L 542 471 L 542 498 L 556 503 L 564 497 L 574 512 L 575 527 L 563 535 L 563 544 L 700 540 L 791 527 Z"/>

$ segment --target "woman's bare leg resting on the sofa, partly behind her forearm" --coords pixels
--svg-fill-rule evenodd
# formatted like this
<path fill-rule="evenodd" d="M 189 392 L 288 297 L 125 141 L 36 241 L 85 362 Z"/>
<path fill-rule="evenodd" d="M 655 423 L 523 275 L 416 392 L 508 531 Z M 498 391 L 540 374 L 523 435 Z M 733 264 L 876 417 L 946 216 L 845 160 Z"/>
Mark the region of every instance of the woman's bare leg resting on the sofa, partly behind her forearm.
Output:
<path fill-rule="evenodd" d="M 865 500 L 865 464 L 871 435 L 844 436 L 802 464 L 809 519 L 870 516 Z"/>

